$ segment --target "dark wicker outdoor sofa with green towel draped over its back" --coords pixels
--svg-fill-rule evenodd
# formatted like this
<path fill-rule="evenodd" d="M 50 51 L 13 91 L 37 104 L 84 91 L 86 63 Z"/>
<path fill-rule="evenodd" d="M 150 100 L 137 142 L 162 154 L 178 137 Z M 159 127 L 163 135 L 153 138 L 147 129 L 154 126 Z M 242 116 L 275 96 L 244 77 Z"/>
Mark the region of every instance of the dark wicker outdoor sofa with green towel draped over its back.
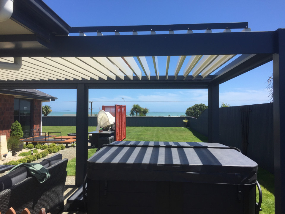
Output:
<path fill-rule="evenodd" d="M 56 214 L 64 207 L 64 185 L 66 165 L 63 159 L 47 167 L 50 178 L 43 183 L 35 177 L 28 177 L 12 187 L 0 192 L 0 210 L 6 213 L 13 207 L 16 213 L 28 208 L 31 214 L 38 214 L 42 207 L 47 213 Z"/>

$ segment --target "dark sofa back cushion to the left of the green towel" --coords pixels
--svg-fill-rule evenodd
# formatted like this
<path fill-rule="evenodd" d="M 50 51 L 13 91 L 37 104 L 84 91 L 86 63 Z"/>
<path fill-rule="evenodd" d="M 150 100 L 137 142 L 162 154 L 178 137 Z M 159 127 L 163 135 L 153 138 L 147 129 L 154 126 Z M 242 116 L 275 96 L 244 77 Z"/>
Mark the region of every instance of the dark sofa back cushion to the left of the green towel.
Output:
<path fill-rule="evenodd" d="M 0 192 L 29 177 L 26 167 L 20 167 L 0 177 Z"/>

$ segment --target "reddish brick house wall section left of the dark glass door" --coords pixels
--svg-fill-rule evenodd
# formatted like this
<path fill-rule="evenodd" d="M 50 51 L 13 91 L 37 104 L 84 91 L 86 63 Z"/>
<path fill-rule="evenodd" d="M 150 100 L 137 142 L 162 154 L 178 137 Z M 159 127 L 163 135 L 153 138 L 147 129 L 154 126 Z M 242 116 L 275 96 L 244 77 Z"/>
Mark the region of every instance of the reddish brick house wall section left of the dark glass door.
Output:
<path fill-rule="evenodd" d="M 0 135 L 10 136 L 14 122 L 14 96 L 0 94 Z"/>

